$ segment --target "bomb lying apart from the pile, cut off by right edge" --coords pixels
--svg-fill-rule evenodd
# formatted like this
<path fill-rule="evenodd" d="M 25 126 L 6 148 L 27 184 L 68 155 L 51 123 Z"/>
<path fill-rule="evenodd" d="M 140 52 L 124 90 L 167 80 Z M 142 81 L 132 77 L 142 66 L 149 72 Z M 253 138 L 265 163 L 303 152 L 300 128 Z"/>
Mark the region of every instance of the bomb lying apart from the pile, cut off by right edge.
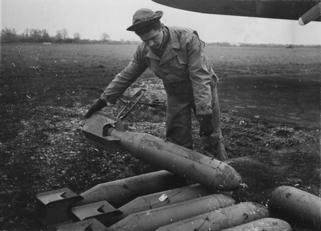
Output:
<path fill-rule="evenodd" d="M 281 186 L 272 191 L 271 207 L 311 225 L 321 225 L 321 198 L 300 189 Z"/>

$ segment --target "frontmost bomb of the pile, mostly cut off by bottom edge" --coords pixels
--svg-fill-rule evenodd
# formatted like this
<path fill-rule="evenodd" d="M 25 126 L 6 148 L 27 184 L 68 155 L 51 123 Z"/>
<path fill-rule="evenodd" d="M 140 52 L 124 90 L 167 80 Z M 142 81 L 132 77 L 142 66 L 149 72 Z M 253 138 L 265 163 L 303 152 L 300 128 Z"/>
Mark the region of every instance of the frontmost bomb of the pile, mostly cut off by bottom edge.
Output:
<path fill-rule="evenodd" d="M 276 218 L 262 218 L 221 231 L 292 231 L 290 225 Z"/>

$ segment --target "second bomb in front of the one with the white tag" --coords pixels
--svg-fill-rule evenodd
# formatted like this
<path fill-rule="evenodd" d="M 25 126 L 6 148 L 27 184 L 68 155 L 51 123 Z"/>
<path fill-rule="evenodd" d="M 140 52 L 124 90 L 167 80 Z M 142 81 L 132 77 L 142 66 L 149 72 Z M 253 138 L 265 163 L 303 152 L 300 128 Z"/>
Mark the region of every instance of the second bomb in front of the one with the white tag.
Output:
<path fill-rule="evenodd" d="M 221 230 L 269 216 L 266 207 L 243 202 L 163 226 L 157 231 Z"/>

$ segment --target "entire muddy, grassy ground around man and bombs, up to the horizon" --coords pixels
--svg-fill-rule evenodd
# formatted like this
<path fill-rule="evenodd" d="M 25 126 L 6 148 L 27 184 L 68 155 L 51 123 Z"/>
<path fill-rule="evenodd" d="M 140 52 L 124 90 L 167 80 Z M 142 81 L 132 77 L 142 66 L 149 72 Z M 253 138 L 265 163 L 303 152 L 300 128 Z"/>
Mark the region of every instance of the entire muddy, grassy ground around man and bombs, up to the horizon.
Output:
<path fill-rule="evenodd" d="M 215 52 L 239 54 L 235 49 Z M 129 46 L 1 47 L 0 230 L 45 230 L 36 216 L 40 192 L 68 187 L 80 194 L 99 183 L 160 170 L 122 150 L 94 147 L 81 132 L 87 107 L 128 63 L 132 51 Z M 235 199 L 270 208 L 271 191 L 281 185 L 320 197 L 320 64 L 309 56 L 314 51 L 278 51 L 291 63 L 271 58 L 276 50 L 266 54 L 268 48 L 242 52 L 255 53 L 247 59 L 253 60 L 252 69 L 238 64 L 238 58 L 230 63 L 212 57 L 222 76 L 218 94 L 224 142 L 244 183 Z M 295 52 L 304 53 L 302 63 L 302 57 L 293 60 Z M 266 54 L 259 63 L 254 62 L 257 54 Z M 125 94 L 132 96 L 140 88 L 148 89 L 144 101 L 152 94 L 164 99 L 161 82 L 150 71 Z M 121 107 L 119 102 L 103 111 L 117 115 Z M 164 110 L 140 106 L 124 124 L 128 131 L 163 137 L 164 118 Z M 201 152 L 198 133 L 194 119 L 194 148 Z M 293 231 L 320 229 L 270 212 Z"/>

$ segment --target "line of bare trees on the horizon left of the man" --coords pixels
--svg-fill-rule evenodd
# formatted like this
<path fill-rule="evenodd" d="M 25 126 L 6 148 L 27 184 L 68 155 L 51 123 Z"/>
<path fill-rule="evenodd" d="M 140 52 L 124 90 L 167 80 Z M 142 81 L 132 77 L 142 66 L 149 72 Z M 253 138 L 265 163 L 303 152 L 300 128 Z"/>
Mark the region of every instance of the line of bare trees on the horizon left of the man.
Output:
<path fill-rule="evenodd" d="M 56 32 L 55 36 L 50 36 L 45 29 L 25 29 L 21 34 L 13 28 L 5 28 L 1 30 L 1 43 L 109 43 L 109 44 L 137 44 L 137 41 L 129 41 L 120 39 L 111 40 L 107 33 L 102 33 L 99 40 L 81 39 L 80 33 L 74 33 L 70 38 L 67 30 L 61 29 Z"/>

